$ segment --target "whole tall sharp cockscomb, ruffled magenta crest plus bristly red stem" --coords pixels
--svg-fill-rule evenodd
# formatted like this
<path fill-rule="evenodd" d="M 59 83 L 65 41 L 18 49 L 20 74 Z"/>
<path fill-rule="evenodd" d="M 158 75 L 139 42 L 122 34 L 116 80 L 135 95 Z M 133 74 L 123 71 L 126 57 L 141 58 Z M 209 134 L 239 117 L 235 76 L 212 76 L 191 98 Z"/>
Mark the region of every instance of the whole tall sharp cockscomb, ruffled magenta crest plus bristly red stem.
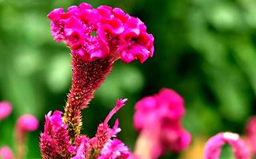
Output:
<path fill-rule="evenodd" d="M 81 111 L 88 107 L 94 91 L 113 68 L 113 62 L 138 59 L 141 63 L 153 56 L 153 35 L 138 18 L 119 8 L 88 3 L 48 14 L 56 42 L 64 42 L 71 50 L 72 87 L 64 112 L 64 123 L 72 143 L 80 134 Z"/>

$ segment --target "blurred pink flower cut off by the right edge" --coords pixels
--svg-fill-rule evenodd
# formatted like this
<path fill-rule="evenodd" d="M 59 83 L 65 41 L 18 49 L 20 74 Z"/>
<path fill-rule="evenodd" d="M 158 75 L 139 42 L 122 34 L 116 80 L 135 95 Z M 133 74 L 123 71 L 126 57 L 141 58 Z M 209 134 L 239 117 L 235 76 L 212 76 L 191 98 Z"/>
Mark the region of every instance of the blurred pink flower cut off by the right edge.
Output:
<path fill-rule="evenodd" d="M 256 154 L 256 117 L 251 117 L 245 129 L 245 142 L 249 146 L 251 156 Z"/>

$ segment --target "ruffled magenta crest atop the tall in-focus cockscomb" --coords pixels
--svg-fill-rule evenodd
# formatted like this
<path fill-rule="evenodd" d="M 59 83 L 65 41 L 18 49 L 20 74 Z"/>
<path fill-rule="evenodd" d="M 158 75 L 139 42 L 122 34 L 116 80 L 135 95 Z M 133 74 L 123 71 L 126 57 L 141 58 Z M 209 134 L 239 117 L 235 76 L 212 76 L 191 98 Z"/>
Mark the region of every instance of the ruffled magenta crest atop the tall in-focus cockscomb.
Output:
<path fill-rule="evenodd" d="M 119 8 L 88 3 L 72 6 L 68 12 L 54 9 L 48 18 L 54 40 L 64 42 L 72 52 L 90 62 L 94 58 L 121 58 L 123 62 L 138 59 L 141 63 L 153 56 L 153 35 L 138 18 Z"/>

